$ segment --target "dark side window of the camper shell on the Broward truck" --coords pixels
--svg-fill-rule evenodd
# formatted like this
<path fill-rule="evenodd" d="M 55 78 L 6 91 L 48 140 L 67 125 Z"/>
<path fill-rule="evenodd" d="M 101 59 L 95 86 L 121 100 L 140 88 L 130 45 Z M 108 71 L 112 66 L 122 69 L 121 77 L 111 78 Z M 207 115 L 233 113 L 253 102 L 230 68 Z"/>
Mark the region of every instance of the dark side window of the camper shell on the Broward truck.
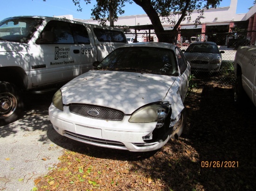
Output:
<path fill-rule="evenodd" d="M 94 33 L 100 42 L 126 43 L 126 38 L 121 31 L 94 28 Z"/>

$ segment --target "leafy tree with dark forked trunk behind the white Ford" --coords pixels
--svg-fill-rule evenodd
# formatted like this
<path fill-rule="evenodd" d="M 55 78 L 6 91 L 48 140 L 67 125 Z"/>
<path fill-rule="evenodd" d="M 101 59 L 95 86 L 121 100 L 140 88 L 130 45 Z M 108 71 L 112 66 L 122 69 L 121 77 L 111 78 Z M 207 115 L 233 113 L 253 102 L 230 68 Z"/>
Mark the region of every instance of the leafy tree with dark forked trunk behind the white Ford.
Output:
<path fill-rule="evenodd" d="M 86 4 L 90 4 L 91 0 L 83 0 Z M 204 10 L 216 8 L 222 0 L 97 0 L 91 10 L 92 19 L 98 20 L 101 25 L 106 25 L 110 20 L 109 15 L 112 13 L 114 21 L 118 19 L 118 14 L 125 13 L 124 7 L 127 3 L 135 3 L 145 11 L 155 29 L 158 38 L 160 32 L 164 33 L 162 22 L 174 24 L 173 31 L 185 19 L 191 19 L 191 14 L 197 10 L 198 17 L 193 21 L 195 25 L 200 23 L 200 19 L 204 18 Z M 78 6 L 77 11 L 82 11 L 81 0 L 73 0 L 74 5 Z M 179 15 L 178 21 L 175 21 L 175 15 Z M 160 17 L 163 20 L 160 20 Z"/>

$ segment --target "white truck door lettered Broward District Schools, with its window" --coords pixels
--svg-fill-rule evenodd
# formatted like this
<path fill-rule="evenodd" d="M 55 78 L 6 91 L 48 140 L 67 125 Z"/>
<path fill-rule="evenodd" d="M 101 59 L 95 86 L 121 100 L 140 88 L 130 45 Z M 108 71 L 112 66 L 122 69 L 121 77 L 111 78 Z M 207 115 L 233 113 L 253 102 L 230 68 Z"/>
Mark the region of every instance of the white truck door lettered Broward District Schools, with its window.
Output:
<path fill-rule="evenodd" d="M 84 25 L 49 21 L 35 44 L 28 45 L 33 87 L 65 82 L 91 69 L 93 51 Z M 82 59 L 85 52 L 90 54 Z"/>

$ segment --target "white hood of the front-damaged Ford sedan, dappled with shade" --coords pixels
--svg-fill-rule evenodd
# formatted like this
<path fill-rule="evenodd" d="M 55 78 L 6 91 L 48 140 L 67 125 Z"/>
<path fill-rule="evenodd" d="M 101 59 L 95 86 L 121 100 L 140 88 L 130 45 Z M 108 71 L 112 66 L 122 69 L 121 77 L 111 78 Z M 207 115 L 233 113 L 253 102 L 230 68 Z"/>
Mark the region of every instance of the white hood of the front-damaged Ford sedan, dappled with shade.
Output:
<path fill-rule="evenodd" d="M 137 108 L 148 103 L 163 100 L 170 87 L 172 88 L 165 101 L 170 101 L 168 97 L 172 94 L 171 97 L 175 97 L 176 104 L 182 104 L 180 96 L 177 96 L 179 85 L 175 78 L 177 77 L 90 70 L 61 88 L 63 104 L 92 104 L 132 114 Z M 183 104 L 178 107 L 182 108 Z"/>

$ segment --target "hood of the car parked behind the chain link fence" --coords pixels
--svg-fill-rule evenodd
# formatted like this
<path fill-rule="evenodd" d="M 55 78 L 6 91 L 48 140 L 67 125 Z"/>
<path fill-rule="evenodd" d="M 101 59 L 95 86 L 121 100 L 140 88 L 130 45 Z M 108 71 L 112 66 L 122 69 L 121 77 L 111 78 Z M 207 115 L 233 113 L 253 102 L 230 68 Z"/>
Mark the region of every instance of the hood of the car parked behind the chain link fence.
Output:
<path fill-rule="evenodd" d="M 184 52 L 184 56 L 189 60 L 203 60 L 203 61 L 211 61 L 216 59 L 221 59 L 221 54 L 213 54 L 213 53 L 201 53 L 201 52 Z"/>

